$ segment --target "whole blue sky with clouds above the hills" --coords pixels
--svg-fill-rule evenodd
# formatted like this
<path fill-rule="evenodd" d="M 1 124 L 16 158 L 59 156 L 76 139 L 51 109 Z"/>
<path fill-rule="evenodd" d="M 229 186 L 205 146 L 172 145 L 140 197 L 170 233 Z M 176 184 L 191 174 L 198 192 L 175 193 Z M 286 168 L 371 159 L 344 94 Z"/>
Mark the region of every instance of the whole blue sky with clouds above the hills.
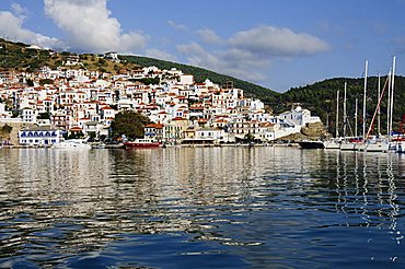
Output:
<path fill-rule="evenodd" d="M 1 0 L 0 37 L 207 68 L 277 92 L 405 73 L 405 0 Z"/>

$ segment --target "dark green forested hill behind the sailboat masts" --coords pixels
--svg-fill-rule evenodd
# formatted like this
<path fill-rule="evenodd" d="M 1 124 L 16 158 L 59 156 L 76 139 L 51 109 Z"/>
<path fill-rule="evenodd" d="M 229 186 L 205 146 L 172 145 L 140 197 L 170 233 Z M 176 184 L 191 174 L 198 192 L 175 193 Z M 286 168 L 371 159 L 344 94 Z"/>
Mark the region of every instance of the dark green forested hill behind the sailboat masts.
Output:
<path fill-rule="evenodd" d="M 384 86 L 386 77 L 381 78 L 381 91 Z M 292 87 L 288 92 L 281 94 L 276 102 L 264 100 L 276 114 L 291 109 L 294 104 L 301 104 L 302 107 L 312 112 L 312 115 L 320 116 L 324 124 L 328 124 L 329 132 L 335 132 L 336 119 L 336 94 L 339 90 L 339 118 L 343 119 L 343 100 L 345 82 L 347 82 L 347 116 L 349 125 L 354 130 L 355 127 L 355 110 L 356 98 L 358 98 L 358 130 L 362 128 L 362 101 L 364 92 L 363 79 L 327 79 L 316 82 L 311 85 Z M 367 84 L 367 122 L 371 121 L 378 103 L 378 78 L 369 77 Z M 383 130 L 386 128 L 386 100 L 387 93 L 383 97 L 381 105 L 381 126 Z M 402 117 L 405 115 L 405 78 L 395 77 L 395 93 L 394 93 L 394 130 L 401 127 Z M 342 122 L 339 124 L 342 126 Z M 348 127 L 349 128 L 349 127 Z"/>

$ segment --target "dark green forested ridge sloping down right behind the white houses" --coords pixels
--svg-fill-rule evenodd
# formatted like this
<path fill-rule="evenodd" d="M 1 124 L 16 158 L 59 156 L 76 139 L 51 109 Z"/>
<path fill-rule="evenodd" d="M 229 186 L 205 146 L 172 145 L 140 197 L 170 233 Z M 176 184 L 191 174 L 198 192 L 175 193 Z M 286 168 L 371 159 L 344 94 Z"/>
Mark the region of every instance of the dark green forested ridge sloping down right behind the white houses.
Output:
<path fill-rule="evenodd" d="M 264 86 L 235 79 L 230 75 L 220 74 L 204 68 L 140 56 L 119 56 L 119 58 L 126 60 L 127 62 L 135 63 L 141 67 L 154 66 L 162 70 L 170 70 L 171 68 L 175 68 L 177 70 L 182 70 L 183 73 L 193 74 L 196 82 L 204 82 L 206 79 L 209 79 L 216 84 L 224 85 L 227 81 L 232 81 L 235 87 L 244 90 L 248 96 L 276 101 L 277 97 L 280 95 L 280 93 L 277 93 Z"/>

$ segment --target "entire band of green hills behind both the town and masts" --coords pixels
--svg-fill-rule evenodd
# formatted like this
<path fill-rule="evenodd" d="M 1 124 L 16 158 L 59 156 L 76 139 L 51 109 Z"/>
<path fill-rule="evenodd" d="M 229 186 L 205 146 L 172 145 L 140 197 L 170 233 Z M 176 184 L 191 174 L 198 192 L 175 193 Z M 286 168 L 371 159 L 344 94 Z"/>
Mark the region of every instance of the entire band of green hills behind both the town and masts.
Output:
<path fill-rule="evenodd" d="M 123 60 L 117 63 L 111 60 L 103 59 L 99 55 L 84 54 L 77 55 L 71 52 L 56 52 L 53 50 L 44 50 L 31 48 L 30 45 L 22 43 L 12 43 L 0 38 L 0 71 L 2 70 L 18 70 L 18 71 L 36 71 L 43 66 L 49 66 L 55 69 L 62 65 L 71 56 L 80 58 L 81 66 L 70 68 L 86 68 L 88 70 L 99 70 L 103 72 L 116 73 L 121 69 L 137 69 L 139 67 L 155 66 L 160 69 L 176 68 L 184 73 L 193 74 L 196 82 L 202 82 L 207 78 L 217 84 L 225 84 L 232 81 L 234 86 L 243 89 L 247 96 L 261 98 L 268 110 L 277 115 L 285 110 L 291 109 L 294 105 L 300 104 L 302 107 L 312 112 L 312 115 L 320 116 L 322 121 L 328 126 L 328 131 L 335 133 L 336 119 L 336 92 L 340 91 L 340 115 L 343 118 L 343 91 L 345 81 L 347 82 L 347 115 L 350 119 L 351 129 L 355 128 L 355 100 L 358 98 L 358 130 L 361 129 L 362 116 L 362 94 L 363 94 L 363 79 L 347 79 L 336 78 L 327 79 L 316 82 L 311 85 L 292 87 L 286 93 L 277 93 L 266 87 L 220 74 L 207 69 L 164 61 L 148 57 L 139 56 L 119 56 Z M 383 84 L 385 78 L 381 79 Z M 371 120 L 377 105 L 378 78 L 368 78 L 368 100 L 367 114 L 368 122 Z M 401 127 L 402 115 L 405 115 L 405 78 L 395 78 L 395 108 L 394 108 L 394 129 L 398 130 Z M 382 122 L 386 120 L 386 98 L 382 103 Z M 385 124 L 382 124 L 383 131 Z"/>

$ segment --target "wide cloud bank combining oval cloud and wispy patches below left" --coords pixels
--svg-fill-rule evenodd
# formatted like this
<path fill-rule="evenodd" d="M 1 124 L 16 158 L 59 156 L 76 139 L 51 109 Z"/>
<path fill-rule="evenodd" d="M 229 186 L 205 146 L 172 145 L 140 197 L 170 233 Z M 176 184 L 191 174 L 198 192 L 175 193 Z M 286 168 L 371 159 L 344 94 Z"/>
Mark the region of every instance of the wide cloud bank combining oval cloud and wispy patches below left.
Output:
<path fill-rule="evenodd" d="M 238 32 L 228 39 L 208 28 L 199 30 L 197 34 L 205 43 L 221 46 L 209 52 L 195 42 L 178 45 L 177 51 L 189 63 L 258 83 L 266 80 L 264 72 L 279 57 L 301 57 L 329 49 L 315 36 L 273 26 Z"/>

